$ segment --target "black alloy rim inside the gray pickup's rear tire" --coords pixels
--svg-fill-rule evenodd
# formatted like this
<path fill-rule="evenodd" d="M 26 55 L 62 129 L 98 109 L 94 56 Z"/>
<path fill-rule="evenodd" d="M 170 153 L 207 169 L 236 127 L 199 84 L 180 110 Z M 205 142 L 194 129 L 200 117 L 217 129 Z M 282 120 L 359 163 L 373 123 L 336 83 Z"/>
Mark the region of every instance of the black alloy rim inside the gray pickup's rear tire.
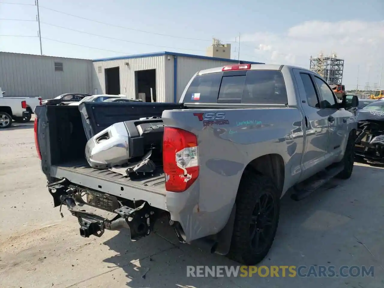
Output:
<path fill-rule="evenodd" d="M 276 202 L 268 192 L 260 195 L 250 223 L 250 244 L 256 253 L 262 252 L 273 237 L 276 222 Z"/>

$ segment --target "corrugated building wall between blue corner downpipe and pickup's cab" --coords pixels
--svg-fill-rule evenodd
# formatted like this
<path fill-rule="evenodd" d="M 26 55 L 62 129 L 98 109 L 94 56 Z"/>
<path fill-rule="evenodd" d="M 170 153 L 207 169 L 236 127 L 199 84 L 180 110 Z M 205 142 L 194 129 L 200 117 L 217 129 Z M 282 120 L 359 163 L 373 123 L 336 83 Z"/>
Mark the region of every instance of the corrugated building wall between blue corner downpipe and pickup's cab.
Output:
<path fill-rule="evenodd" d="M 198 59 L 189 57 L 177 57 L 177 101 L 187 86 L 189 80 L 197 71 L 220 67 L 224 65 L 235 64 L 227 61 L 217 61 L 209 59 Z M 173 88 L 172 88 L 173 91 Z M 173 101 L 173 98 L 172 98 Z"/>

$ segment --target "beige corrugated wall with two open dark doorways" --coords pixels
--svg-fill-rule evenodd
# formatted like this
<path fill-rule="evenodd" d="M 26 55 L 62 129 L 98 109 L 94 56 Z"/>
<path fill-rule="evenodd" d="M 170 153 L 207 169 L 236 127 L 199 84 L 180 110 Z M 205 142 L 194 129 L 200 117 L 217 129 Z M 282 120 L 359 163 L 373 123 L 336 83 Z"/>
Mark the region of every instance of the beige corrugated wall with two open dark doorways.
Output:
<path fill-rule="evenodd" d="M 93 88 L 98 89 L 98 93 L 106 93 L 105 90 L 105 69 L 120 68 L 120 93 L 128 98 L 136 98 L 135 90 L 135 71 L 156 69 L 156 98 L 157 102 L 166 102 L 166 95 L 169 93 L 170 81 L 167 56 L 150 56 L 142 58 L 129 58 L 119 60 L 94 61 Z M 167 64 L 165 63 L 167 61 Z M 128 63 L 128 65 L 125 65 Z M 101 68 L 99 68 L 101 66 Z M 172 73 L 172 71 L 171 71 Z M 167 75 L 166 75 L 167 74 Z M 172 76 L 172 75 L 171 75 Z M 167 83 L 167 84 L 166 84 Z M 172 84 L 171 84 L 172 85 Z M 172 93 L 172 91 L 170 91 Z"/>

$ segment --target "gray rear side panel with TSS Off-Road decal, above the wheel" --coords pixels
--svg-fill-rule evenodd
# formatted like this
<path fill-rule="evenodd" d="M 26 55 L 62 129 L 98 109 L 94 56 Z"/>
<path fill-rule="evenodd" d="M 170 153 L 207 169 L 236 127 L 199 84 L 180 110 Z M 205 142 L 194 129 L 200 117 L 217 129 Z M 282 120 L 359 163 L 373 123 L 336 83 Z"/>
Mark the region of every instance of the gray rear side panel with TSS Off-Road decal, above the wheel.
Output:
<path fill-rule="evenodd" d="M 271 117 L 274 113 L 279 121 Z M 225 227 L 243 171 L 254 159 L 278 154 L 284 163 L 283 179 L 294 182 L 300 177 L 303 131 L 296 108 L 166 110 L 162 120 L 165 127 L 184 129 L 198 139 L 198 179 L 184 192 L 166 193 L 167 210 L 183 228 L 186 242 Z M 281 181 L 284 192 L 290 183 Z"/>

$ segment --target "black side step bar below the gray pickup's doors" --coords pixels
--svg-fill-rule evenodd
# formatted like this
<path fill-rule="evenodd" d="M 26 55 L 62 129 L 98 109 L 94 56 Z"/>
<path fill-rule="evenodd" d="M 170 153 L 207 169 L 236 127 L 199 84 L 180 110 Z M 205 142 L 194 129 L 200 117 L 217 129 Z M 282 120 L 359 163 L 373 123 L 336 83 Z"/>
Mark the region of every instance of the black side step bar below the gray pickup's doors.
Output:
<path fill-rule="evenodd" d="M 327 183 L 329 180 L 331 180 L 333 177 L 335 177 L 337 174 L 343 171 L 343 169 L 344 169 L 344 166 L 338 165 L 328 170 L 324 170 L 319 174 L 313 175 L 312 177 L 305 180 L 304 182 L 301 182 L 295 185 L 294 186 L 295 192 L 291 194 L 291 199 L 295 201 L 300 201 L 308 197 L 314 191 L 319 189 L 321 186 L 323 186 L 325 183 Z"/>

